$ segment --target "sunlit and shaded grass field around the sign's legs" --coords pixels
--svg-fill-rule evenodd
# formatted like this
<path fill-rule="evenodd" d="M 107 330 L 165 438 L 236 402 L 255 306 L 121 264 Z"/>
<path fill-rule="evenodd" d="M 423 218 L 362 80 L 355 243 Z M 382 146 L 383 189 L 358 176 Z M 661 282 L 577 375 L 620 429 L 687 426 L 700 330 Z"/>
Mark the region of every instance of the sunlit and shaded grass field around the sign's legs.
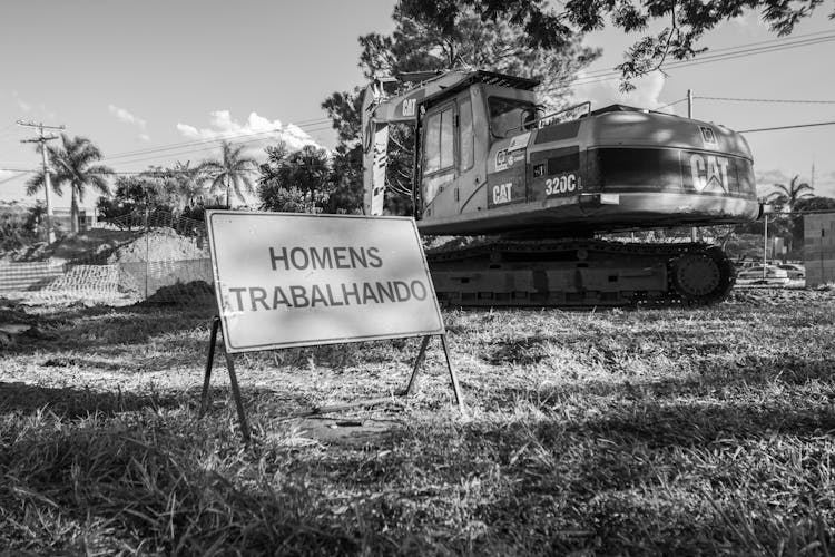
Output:
<path fill-rule="evenodd" d="M 7 316 L 11 315 L 7 310 Z M 3 555 L 829 555 L 835 294 L 713 309 L 448 311 L 418 340 L 223 359 L 209 310 L 38 315 L 0 352 Z M 19 315 L 18 315 L 19 316 Z M 3 550 L 6 553 L 3 553 Z"/>

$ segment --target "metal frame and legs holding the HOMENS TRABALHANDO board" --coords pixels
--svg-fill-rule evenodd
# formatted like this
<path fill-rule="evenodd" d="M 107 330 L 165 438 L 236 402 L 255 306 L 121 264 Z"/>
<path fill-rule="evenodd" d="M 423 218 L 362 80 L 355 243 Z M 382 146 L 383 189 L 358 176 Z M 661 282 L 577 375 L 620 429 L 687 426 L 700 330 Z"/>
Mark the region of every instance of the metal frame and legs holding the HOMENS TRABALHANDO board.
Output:
<path fill-rule="evenodd" d="M 341 336 L 341 338 L 328 338 L 323 340 L 306 340 L 306 341 L 293 341 L 293 342 L 286 342 L 286 343 L 271 343 L 271 344 L 263 344 L 263 345 L 254 345 L 254 346 L 230 346 L 230 328 L 227 316 L 224 312 L 224 300 L 223 300 L 223 292 L 222 287 L 219 286 L 222 284 L 220 281 L 220 272 L 219 272 L 219 265 L 218 265 L 218 258 L 217 258 L 217 244 L 215 242 L 215 232 L 212 226 L 212 217 L 215 215 L 246 215 L 246 216 L 268 216 L 268 217 L 307 217 L 307 218 L 350 218 L 350 219 L 374 219 L 374 221 L 410 221 L 412 223 L 412 229 L 415 234 L 415 242 L 420 252 L 421 261 L 422 261 L 422 271 L 425 273 L 425 277 L 429 284 L 429 293 L 428 295 L 432 296 L 432 305 L 434 307 L 436 317 L 438 317 L 438 328 L 431 328 L 429 330 L 420 330 L 420 331 L 410 331 L 410 332 L 397 332 L 397 333 L 391 333 L 391 334 L 373 334 L 373 335 L 363 335 L 363 336 Z M 249 428 L 247 426 L 246 420 L 246 412 L 244 410 L 243 399 L 240 397 L 240 388 L 238 385 L 237 381 L 237 374 L 235 372 L 235 360 L 234 356 L 236 353 L 244 353 L 244 352 L 263 352 L 263 351 L 271 351 L 271 350 L 285 350 L 288 348 L 299 348 L 299 346 L 313 346 L 313 345 L 326 345 L 326 344 L 343 344 L 343 343 L 350 343 L 350 342 L 367 342 L 367 341 L 379 341 L 379 340 L 391 340 L 391 339 L 409 339 L 409 338 L 416 338 L 422 336 L 423 340 L 421 342 L 421 346 L 418 353 L 418 356 L 414 360 L 413 367 L 412 367 L 412 374 L 409 379 L 409 384 L 405 389 L 397 391 L 393 393 L 396 397 L 407 397 L 410 394 L 416 393 L 419 390 L 419 380 L 418 380 L 418 372 L 422 365 L 422 363 L 425 360 L 425 353 L 426 349 L 429 346 L 429 341 L 432 336 L 440 336 L 441 338 L 441 345 L 443 348 L 444 356 L 446 360 L 446 368 L 450 373 L 450 381 L 452 391 L 455 397 L 455 403 L 459 407 L 459 410 L 462 414 L 466 413 L 463 397 L 461 395 L 461 387 L 458 380 L 458 375 L 455 374 L 455 370 L 452 367 L 452 361 L 450 359 L 450 352 L 449 346 L 446 343 L 446 329 L 443 323 L 443 317 L 441 315 L 440 306 L 438 304 L 438 296 L 435 294 L 434 285 L 432 284 L 432 276 L 430 274 L 429 265 L 426 264 L 426 257 L 423 253 L 423 246 L 420 241 L 420 235 L 418 234 L 418 226 L 413 218 L 411 217 L 399 217 L 399 216 L 365 216 L 365 215 L 312 215 L 312 214 L 305 214 L 305 213 L 265 213 L 265 212 L 245 212 L 245 211 L 226 211 L 226 209 L 212 209 L 206 212 L 206 229 L 208 233 L 209 238 L 209 251 L 212 254 L 212 273 L 213 278 L 215 281 L 215 301 L 217 303 L 218 309 L 218 315 L 215 315 L 212 320 L 212 332 L 209 336 L 209 349 L 208 349 L 208 355 L 206 361 L 206 370 L 204 373 L 204 381 L 203 381 L 203 391 L 200 395 L 200 410 L 199 410 L 199 418 L 203 418 L 206 412 L 208 411 L 209 405 L 209 383 L 212 378 L 212 369 L 214 364 L 214 356 L 215 351 L 217 349 L 217 336 L 218 333 L 222 335 L 220 343 L 224 349 L 224 355 L 226 359 L 226 369 L 229 373 L 229 383 L 232 387 L 232 393 L 233 398 L 235 400 L 235 405 L 237 407 L 237 413 L 238 413 L 238 421 L 240 424 L 240 432 L 243 436 L 243 439 L 245 442 L 249 441 Z M 352 402 L 348 404 L 342 404 L 338 407 L 320 407 L 314 408 L 311 414 L 321 414 L 326 412 L 334 412 L 338 410 L 343 410 L 346 408 L 353 408 L 353 407 L 371 407 L 381 404 L 384 402 L 387 402 L 391 400 L 391 397 L 389 398 L 382 398 L 382 399 L 371 399 L 371 400 L 361 400 L 356 402 Z"/>

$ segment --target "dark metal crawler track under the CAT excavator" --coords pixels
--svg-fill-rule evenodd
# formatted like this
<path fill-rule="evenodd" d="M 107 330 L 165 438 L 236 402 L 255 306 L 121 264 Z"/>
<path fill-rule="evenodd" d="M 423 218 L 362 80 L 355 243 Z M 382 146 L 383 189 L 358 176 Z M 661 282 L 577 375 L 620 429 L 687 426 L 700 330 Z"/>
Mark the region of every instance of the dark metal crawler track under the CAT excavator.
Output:
<path fill-rule="evenodd" d="M 736 281 L 718 247 L 601 240 L 487 241 L 426 251 L 439 301 L 459 306 L 697 306 Z"/>

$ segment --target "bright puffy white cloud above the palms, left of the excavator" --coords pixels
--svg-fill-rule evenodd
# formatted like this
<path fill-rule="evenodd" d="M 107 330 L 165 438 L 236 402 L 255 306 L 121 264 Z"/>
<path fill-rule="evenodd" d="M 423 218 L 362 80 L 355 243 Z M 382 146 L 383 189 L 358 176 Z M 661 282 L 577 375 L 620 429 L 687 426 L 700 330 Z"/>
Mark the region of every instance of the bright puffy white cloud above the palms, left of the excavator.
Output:
<path fill-rule="evenodd" d="M 259 141 L 276 139 L 287 144 L 291 149 L 301 149 L 305 145 L 317 146 L 316 141 L 302 128 L 293 124 L 282 125 L 282 121 L 269 120 L 256 113 L 249 113 L 244 124 L 235 120 L 228 110 L 214 110 L 209 114 L 209 127 L 197 128 L 195 126 L 178 123 L 177 129 L 189 139 L 229 139 L 246 137 L 247 140 Z"/>

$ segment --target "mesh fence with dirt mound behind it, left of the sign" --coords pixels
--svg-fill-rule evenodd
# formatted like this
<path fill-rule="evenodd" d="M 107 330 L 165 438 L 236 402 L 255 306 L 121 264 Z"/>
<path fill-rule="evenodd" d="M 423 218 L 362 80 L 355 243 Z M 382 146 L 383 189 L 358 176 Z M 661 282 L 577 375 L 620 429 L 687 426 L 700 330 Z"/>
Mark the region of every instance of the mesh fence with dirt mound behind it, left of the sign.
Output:
<path fill-rule="evenodd" d="M 129 214 L 0 264 L 0 296 L 28 304 L 212 304 L 202 221 Z"/>

